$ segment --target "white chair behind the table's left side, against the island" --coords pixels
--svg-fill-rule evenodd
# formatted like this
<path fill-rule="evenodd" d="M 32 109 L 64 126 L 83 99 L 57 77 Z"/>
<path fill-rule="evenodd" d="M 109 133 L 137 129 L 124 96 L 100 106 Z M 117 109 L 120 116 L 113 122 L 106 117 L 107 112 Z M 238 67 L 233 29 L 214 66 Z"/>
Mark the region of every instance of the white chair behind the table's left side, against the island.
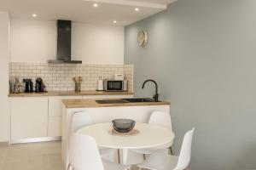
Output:
<path fill-rule="evenodd" d="M 91 124 L 93 124 L 93 122 L 88 112 L 86 111 L 75 112 L 72 117 L 71 131 L 72 133 L 75 133 L 79 130 L 79 128 L 85 127 Z M 99 150 L 102 158 L 108 161 L 116 161 L 117 150 L 108 149 L 108 148 L 100 148 Z"/>

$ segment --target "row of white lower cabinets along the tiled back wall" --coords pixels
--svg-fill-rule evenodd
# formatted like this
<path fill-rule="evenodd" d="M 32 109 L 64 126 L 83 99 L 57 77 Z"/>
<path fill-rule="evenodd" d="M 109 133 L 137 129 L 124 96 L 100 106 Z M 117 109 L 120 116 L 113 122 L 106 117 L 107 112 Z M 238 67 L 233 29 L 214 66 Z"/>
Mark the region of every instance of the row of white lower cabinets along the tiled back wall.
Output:
<path fill-rule="evenodd" d="M 133 95 L 84 95 L 11 98 L 11 143 L 61 137 L 62 99 L 132 98 Z M 47 139 L 46 139 L 47 140 Z"/>

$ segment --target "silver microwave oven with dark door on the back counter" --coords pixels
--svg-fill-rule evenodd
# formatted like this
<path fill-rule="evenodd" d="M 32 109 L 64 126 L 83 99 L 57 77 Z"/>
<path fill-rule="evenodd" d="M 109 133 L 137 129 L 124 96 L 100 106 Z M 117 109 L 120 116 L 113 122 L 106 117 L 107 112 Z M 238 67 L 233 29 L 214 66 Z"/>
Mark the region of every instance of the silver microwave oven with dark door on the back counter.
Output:
<path fill-rule="evenodd" d="M 127 80 L 104 80 L 103 89 L 104 91 L 123 92 L 127 91 L 128 88 Z"/>

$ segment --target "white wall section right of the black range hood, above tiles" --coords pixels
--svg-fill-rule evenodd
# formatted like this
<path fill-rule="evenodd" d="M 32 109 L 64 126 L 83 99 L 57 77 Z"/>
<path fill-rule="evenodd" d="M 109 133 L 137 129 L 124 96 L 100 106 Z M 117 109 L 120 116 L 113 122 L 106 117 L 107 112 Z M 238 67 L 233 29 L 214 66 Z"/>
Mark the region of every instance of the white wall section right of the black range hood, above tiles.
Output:
<path fill-rule="evenodd" d="M 72 56 L 84 63 L 124 64 L 124 27 L 73 24 Z"/>

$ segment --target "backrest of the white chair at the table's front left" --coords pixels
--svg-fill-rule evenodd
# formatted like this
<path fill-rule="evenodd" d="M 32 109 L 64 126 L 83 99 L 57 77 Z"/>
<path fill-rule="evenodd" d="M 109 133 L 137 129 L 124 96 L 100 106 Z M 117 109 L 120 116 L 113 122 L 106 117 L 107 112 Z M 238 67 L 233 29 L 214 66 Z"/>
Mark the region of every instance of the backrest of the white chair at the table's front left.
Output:
<path fill-rule="evenodd" d="M 69 162 L 75 170 L 104 170 L 96 141 L 87 135 L 71 135 Z"/>

